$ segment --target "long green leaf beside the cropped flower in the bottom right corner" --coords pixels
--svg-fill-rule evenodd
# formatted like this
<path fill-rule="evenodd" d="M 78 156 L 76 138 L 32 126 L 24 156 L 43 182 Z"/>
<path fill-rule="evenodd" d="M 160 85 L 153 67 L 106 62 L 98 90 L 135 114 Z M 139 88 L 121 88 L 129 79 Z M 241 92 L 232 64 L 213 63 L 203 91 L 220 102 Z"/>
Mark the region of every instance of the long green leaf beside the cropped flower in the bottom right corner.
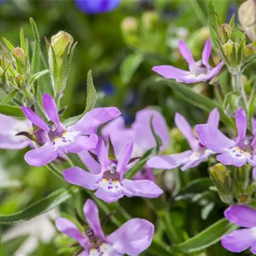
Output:
<path fill-rule="evenodd" d="M 189 240 L 172 246 L 171 249 L 177 253 L 195 253 L 209 246 L 216 244 L 221 238 L 230 232 L 236 230 L 238 226 L 230 223 L 226 218 L 222 218 L 213 225 L 209 226 L 198 235 L 191 237 Z"/>

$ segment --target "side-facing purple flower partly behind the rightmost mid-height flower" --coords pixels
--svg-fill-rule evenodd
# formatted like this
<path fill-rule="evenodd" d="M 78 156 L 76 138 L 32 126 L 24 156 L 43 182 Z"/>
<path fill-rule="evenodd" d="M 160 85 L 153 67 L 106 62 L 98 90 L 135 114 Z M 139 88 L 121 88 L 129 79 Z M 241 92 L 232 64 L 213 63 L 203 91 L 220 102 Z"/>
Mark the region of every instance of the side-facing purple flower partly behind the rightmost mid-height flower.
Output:
<path fill-rule="evenodd" d="M 218 127 L 220 121 L 220 114 L 217 108 L 214 108 L 208 117 L 208 124 L 211 127 Z M 198 166 L 198 164 L 205 161 L 209 156 L 214 154 L 213 150 L 205 148 L 198 139 L 196 139 L 194 132 L 188 121 L 179 113 L 175 115 L 175 124 L 186 137 L 189 142 L 191 150 L 186 150 L 182 153 L 170 154 L 167 156 L 156 156 L 148 161 L 148 166 L 159 169 L 173 169 L 179 166 L 181 171 L 188 170 Z"/>

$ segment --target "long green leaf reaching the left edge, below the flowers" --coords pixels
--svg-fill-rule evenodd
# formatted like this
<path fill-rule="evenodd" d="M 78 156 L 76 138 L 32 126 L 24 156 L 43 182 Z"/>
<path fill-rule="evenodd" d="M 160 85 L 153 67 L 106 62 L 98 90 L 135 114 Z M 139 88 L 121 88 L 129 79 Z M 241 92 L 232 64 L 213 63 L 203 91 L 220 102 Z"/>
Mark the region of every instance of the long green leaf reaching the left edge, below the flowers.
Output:
<path fill-rule="evenodd" d="M 50 211 L 57 205 L 65 202 L 71 198 L 72 195 L 77 193 L 79 188 L 71 186 L 69 188 L 62 188 L 54 191 L 52 194 L 40 199 L 38 202 L 29 205 L 27 208 L 20 212 L 9 215 L 0 215 L 0 223 L 4 225 L 13 225 L 16 223 L 28 221 L 40 214 Z"/>

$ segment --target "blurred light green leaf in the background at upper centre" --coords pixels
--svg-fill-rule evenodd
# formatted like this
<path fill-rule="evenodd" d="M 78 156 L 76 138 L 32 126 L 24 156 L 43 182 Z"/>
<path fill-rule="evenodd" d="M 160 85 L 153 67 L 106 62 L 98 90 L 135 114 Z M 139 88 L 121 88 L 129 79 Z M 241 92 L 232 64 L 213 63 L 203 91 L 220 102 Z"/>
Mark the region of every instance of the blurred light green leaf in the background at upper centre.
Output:
<path fill-rule="evenodd" d="M 125 58 L 120 67 L 120 76 L 124 84 L 128 84 L 131 81 L 132 75 L 143 60 L 143 55 L 137 53 L 131 53 Z"/>

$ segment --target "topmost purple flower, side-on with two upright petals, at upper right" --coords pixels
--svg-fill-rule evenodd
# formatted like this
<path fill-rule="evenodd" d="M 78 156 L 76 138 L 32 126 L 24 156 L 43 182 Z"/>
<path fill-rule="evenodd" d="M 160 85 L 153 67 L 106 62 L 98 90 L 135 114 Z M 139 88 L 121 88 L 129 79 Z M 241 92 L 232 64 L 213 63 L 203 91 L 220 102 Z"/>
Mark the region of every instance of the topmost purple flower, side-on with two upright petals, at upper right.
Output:
<path fill-rule="evenodd" d="M 214 68 L 209 65 L 209 57 L 211 55 L 210 39 L 208 39 L 204 45 L 202 60 L 194 61 L 188 45 L 186 45 L 183 41 L 179 42 L 179 50 L 186 62 L 188 62 L 189 71 L 167 65 L 155 66 L 152 68 L 152 70 L 166 79 L 175 79 L 177 82 L 193 84 L 206 82 L 213 79 L 213 77 L 218 74 L 223 66 L 223 62 L 220 62 Z"/>

